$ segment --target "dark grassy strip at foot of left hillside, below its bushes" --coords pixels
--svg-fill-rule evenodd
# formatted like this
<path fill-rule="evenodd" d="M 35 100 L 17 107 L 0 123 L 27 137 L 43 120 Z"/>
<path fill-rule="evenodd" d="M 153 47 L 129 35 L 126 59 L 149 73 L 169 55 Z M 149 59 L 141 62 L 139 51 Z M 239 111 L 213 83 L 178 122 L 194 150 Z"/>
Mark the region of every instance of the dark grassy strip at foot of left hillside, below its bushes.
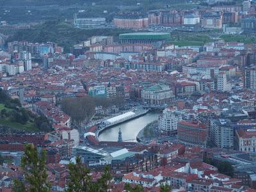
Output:
<path fill-rule="evenodd" d="M 17 122 L 11 122 L 8 118 L 0 118 L 0 124 L 6 125 L 9 127 L 14 127 L 19 130 L 24 130 L 24 131 L 39 131 L 36 127 L 35 124 L 31 122 L 27 122 L 26 124 L 22 125 Z"/>

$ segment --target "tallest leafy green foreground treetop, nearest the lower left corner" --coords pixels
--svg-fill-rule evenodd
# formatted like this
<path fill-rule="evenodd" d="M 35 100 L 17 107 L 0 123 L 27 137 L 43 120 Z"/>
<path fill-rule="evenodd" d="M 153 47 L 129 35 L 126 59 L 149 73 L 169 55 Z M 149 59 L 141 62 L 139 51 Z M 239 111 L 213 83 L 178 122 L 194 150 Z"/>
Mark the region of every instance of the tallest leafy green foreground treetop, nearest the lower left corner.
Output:
<path fill-rule="evenodd" d="M 13 191 L 15 192 L 48 192 L 51 184 L 47 181 L 47 170 L 45 168 L 46 152 L 40 154 L 33 144 L 25 145 L 24 156 L 21 158 L 20 167 L 24 172 L 24 182 L 14 181 Z"/>

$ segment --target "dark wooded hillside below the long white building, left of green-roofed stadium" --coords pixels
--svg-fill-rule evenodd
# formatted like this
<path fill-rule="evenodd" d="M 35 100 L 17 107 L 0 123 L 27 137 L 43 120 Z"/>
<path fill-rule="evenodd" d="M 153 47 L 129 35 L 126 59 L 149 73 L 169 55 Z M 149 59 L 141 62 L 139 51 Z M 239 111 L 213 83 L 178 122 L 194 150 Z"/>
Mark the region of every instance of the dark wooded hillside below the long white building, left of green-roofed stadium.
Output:
<path fill-rule="evenodd" d="M 26 40 L 29 42 L 56 42 L 63 46 L 66 52 L 78 42 L 87 40 L 90 36 L 111 35 L 118 36 L 120 33 L 129 33 L 131 30 L 124 29 L 77 29 L 72 25 L 58 20 L 47 21 L 39 24 L 31 31 L 18 31 L 8 38 L 8 42 Z"/>

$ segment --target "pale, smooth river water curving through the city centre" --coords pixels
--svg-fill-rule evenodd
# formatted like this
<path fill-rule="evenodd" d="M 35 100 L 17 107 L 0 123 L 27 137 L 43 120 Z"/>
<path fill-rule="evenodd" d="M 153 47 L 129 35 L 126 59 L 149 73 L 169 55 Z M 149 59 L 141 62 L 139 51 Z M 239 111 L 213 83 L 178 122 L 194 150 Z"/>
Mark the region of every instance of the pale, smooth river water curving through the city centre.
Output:
<path fill-rule="evenodd" d="M 102 131 L 99 134 L 100 141 L 117 141 L 118 140 L 118 131 L 121 128 L 123 140 L 132 140 L 136 139 L 137 134 L 143 129 L 147 124 L 157 120 L 159 112 L 150 112 L 146 115 L 134 118 L 123 124 L 113 126 L 109 129 Z M 133 140 L 136 141 L 136 140 Z"/>

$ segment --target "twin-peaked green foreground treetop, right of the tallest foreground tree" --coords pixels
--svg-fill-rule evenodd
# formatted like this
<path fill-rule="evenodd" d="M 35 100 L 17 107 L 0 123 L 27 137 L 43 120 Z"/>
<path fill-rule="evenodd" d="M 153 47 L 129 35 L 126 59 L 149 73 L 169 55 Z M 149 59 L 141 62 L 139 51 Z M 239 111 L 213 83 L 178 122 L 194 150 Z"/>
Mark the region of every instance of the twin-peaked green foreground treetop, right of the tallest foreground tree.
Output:
<path fill-rule="evenodd" d="M 103 169 L 103 173 L 96 182 L 92 182 L 90 169 L 86 168 L 82 162 L 81 157 L 76 157 L 76 164 L 68 164 L 69 182 L 66 192 L 105 192 L 108 191 L 108 185 L 112 179 L 109 173 L 109 166 Z"/>

